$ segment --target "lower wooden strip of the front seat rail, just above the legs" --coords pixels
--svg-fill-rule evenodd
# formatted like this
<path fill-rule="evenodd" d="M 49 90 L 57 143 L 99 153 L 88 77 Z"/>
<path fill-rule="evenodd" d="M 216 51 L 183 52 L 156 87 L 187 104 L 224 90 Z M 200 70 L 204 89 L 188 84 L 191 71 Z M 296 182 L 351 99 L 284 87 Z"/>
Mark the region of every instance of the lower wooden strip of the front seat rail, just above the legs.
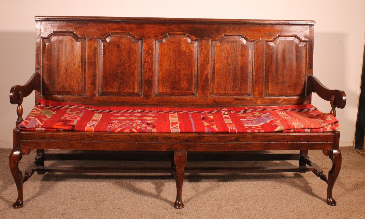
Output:
<path fill-rule="evenodd" d="M 216 142 L 216 143 L 155 143 L 117 141 L 20 141 L 28 149 L 109 150 L 109 151 L 255 151 L 255 150 L 330 150 L 329 142 Z"/>

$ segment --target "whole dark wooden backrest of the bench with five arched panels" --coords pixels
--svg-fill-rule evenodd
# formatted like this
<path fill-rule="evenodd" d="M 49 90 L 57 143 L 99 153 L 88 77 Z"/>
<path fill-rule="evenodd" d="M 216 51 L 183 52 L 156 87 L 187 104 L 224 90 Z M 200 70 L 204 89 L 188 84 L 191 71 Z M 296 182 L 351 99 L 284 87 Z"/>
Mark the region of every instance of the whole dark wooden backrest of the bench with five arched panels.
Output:
<path fill-rule="evenodd" d="M 310 103 L 313 21 L 36 17 L 36 98 L 92 105 Z"/>

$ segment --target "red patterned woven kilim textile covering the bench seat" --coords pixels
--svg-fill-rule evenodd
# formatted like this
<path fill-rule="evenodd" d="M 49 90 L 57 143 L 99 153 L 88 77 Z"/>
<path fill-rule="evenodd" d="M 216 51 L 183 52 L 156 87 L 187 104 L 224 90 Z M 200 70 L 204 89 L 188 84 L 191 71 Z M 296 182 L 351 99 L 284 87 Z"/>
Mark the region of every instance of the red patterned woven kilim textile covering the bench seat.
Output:
<path fill-rule="evenodd" d="M 330 132 L 339 122 L 311 104 L 222 108 L 97 107 L 39 99 L 23 130 L 86 132 Z"/>

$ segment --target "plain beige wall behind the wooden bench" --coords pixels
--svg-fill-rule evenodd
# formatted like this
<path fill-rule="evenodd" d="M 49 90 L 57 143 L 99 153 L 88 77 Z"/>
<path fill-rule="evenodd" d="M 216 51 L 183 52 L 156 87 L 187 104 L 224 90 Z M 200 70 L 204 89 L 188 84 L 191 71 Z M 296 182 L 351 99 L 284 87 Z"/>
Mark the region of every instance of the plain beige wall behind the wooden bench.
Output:
<path fill-rule="evenodd" d="M 365 30 L 362 0 L 33 0 L 2 1 L 1 6 L 0 148 L 12 146 L 16 106 L 9 103 L 10 87 L 25 83 L 34 72 L 35 15 L 315 20 L 314 75 L 346 92 L 346 108 L 337 111 L 340 140 L 341 145 L 353 144 Z M 316 95 L 313 103 L 330 111 L 329 103 Z M 24 101 L 25 115 L 33 104 L 34 94 Z"/>

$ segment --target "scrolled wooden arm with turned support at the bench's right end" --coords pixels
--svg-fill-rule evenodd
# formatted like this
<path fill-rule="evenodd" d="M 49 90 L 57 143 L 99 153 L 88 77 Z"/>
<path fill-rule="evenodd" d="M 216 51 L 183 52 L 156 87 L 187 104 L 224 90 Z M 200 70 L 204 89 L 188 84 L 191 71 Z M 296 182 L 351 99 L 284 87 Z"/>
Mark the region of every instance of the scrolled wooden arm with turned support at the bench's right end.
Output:
<path fill-rule="evenodd" d="M 331 90 L 324 86 L 319 80 L 313 76 L 308 76 L 307 95 L 315 92 L 318 96 L 326 101 L 330 101 L 331 114 L 336 116 L 336 107 L 343 109 L 346 105 L 346 94 L 342 90 Z"/>

